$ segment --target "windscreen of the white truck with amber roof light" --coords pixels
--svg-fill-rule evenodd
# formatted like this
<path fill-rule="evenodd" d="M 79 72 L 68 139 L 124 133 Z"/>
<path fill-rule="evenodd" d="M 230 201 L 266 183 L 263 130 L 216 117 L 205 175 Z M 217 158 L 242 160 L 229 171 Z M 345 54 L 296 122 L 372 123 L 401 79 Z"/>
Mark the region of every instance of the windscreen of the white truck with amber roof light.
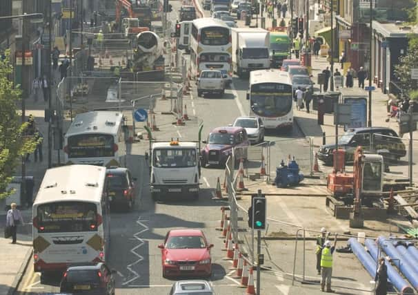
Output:
<path fill-rule="evenodd" d="M 152 163 L 159 168 L 187 168 L 197 166 L 195 149 L 155 149 Z"/>

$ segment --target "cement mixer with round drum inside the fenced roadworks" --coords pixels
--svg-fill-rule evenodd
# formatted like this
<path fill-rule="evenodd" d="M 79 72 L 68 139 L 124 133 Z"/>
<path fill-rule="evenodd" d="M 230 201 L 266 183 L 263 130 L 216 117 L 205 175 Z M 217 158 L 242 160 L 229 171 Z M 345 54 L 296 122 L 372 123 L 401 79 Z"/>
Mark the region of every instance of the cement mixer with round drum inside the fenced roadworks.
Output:
<path fill-rule="evenodd" d="M 151 31 L 140 32 L 135 41 L 132 69 L 138 73 L 138 79 L 164 79 L 163 44 L 158 35 Z"/>

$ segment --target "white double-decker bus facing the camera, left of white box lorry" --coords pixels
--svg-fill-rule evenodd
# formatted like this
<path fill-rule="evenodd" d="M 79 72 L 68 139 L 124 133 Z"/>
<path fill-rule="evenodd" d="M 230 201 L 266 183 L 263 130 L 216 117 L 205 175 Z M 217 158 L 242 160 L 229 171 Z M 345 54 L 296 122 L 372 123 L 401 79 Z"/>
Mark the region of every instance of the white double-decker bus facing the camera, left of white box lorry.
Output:
<path fill-rule="evenodd" d="M 232 82 L 231 29 L 219 19 L 206 17 L 192 21 L 190 38 L 190 76 L 199 77 L 201 70 L 220 70 Z"/>

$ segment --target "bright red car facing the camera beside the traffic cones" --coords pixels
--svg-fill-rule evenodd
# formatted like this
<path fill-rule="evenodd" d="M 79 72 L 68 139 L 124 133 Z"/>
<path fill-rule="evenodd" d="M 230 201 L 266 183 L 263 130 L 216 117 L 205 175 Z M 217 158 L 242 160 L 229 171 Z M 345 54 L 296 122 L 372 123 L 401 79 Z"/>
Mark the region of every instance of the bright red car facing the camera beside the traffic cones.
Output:
<path fill-rule="evenodd" d="M 172 229 L 168 231 L 161 249 L 163 277 L 212 275 L 212 258 L 203 231 L 200 229 Z"/>

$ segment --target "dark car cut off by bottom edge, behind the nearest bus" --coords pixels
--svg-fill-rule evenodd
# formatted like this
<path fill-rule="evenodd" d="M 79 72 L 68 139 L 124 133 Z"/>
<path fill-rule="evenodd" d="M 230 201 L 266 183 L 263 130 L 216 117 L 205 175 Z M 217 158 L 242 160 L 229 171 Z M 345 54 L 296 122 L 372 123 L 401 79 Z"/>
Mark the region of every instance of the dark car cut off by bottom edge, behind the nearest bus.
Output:
<path fill-rule="evenodd" d="M 59 292 L 86 295 L 115 295 L 115 270 L 105 263 L 74 265 L 63 273 Z"/>

